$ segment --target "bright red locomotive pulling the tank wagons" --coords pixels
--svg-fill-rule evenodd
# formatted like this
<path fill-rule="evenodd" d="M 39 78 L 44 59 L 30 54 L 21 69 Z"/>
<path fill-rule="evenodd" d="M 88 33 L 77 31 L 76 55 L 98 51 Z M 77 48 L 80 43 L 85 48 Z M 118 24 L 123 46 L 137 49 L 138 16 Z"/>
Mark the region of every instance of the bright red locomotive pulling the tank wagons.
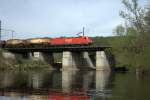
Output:
<path fill-rule="evenodd" d="M 87 36 L 80 37 L 67 37 L 67 38 L 52 38 L 51 45 L 89 45 L 92 43 L 92 39 Z"/>

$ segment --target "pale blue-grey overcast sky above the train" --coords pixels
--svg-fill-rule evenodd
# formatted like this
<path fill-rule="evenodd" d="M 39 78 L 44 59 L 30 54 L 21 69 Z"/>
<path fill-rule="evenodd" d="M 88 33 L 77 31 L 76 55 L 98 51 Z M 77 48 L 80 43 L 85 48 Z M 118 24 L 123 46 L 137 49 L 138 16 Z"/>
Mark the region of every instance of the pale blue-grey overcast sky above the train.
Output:
<path fill-rule="evenodd" d="M 111 36 L 121 9 L 121 0 L 0 0 L 0 20 L 21 38 L 76 36 L 83 26 L 88 36 Z"/>

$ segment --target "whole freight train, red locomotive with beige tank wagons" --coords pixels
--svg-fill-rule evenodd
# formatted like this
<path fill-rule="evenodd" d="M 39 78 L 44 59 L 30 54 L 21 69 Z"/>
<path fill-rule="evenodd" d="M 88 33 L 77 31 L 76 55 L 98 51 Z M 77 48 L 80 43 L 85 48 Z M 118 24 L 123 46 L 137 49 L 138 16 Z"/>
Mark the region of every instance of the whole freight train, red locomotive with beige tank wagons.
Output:
<path fill-rule="evenodd" d="M 31 39 L 10 39 L 1 41 L 1 48 L 10 47 L 50 47 L 50 46 L 85 46 L 92 44 L 92 39 L 87 36 L 59 37 L 59 38 L 31 38 Z"/>

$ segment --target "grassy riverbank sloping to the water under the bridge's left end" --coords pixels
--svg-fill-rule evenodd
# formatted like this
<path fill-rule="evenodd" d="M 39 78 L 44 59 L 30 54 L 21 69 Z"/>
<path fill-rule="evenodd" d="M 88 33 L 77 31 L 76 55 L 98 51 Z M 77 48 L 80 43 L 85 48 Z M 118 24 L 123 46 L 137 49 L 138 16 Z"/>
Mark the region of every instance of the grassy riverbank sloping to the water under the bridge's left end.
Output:
<path fill-rule="evenodd" d="M 40 60 L 23 59 L 20 56 L 14 58 L 5 58 L 3 51 L 0 49 L 0 70 L 44 70 L 52 67 Z"/>

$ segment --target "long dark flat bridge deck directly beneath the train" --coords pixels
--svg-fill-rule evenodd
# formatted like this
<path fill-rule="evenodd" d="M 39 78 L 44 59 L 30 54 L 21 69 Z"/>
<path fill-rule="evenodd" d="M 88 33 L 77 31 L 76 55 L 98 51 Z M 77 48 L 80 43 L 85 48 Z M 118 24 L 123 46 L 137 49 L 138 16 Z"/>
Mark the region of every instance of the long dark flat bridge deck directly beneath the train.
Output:
<path fill-rule="evenodd" d="M 36 47 L 36 48 L 4 48 L 11 52 L 62 52 L 62 51 L 98 51 L 110 46 L 78 46 L 78 47 Z"/>

